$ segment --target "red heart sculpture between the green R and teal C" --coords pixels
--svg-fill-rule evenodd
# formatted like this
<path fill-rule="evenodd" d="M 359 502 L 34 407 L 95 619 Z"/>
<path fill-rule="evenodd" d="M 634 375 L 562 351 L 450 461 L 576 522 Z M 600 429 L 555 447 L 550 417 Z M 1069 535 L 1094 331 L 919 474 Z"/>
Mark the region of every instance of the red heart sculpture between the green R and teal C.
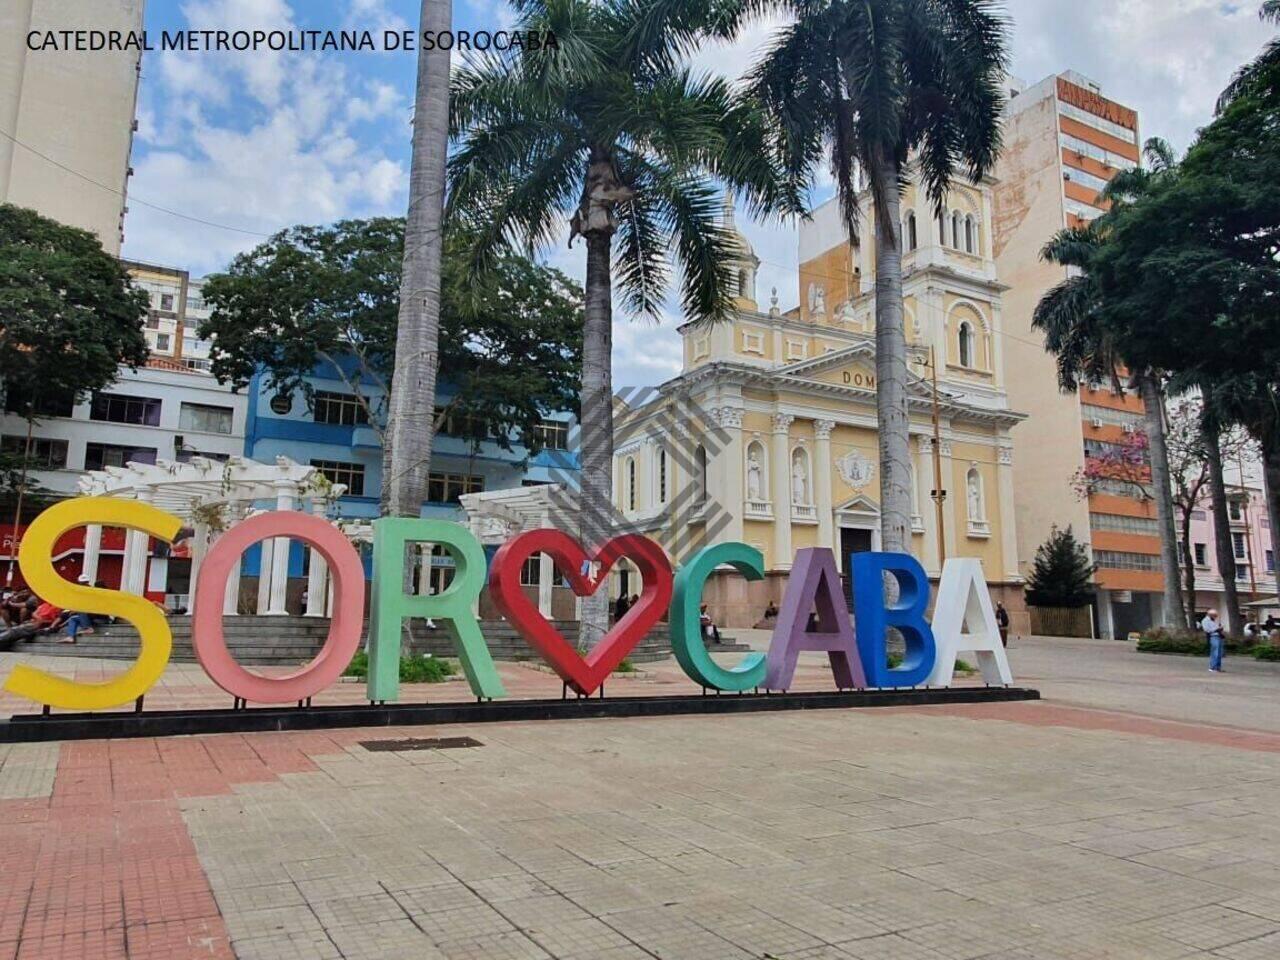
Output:
<path fill-rule="evenodd" d="M 538 604 L 520 586 L 520 571 L 535 553 L 550 554 L 579 596 L 594 594 L 605 582 L 613 564 L 623 557 L 640 570 L 644 584 L 640 599 L 585 659 L 547 621 L 538 611 Z M 595 562 L 600 564 L 600 572 L 594 577 L 584 575 L 584 567 Z M 489 595 L 561 680 L 584 696 L 590 696 L 667 612 L 671 604 L 671 562 L 658 544 L 640 534 L 614 536 L 590 556 L 573 538 L 559 530 L 530 530 L 504 543 L 494 554 L 489 568 Z"/>

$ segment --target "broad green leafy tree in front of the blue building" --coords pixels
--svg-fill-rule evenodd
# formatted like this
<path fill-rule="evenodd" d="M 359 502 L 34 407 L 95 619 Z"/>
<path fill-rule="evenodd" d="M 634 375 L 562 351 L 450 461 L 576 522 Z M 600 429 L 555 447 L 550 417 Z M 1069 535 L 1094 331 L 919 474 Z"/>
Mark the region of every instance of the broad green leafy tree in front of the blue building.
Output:
<path fill-rule="evenodd" d="M 311 394 L 319 367 L 343 380 L 385 440 L 399 346 L 397 314 L 404 221 L 342 220 L 292 227 L 237 256 L 205 284 L 212 314 L 200 335 L 212 342 L 212 372 L 244 385 L 262 371 L 268 390 Z M 448 417 L 470 440 L 538 451 L 538 426 L 577 403 L 581 305 L 557 270 L 508 253 L 476 284 L 466 274 L 466 237 L 451 236 L 442 276 L 442 353 Z M 385 484 L 384 484 L 385 488 Z M 425 492 L 424 492 L 425 495 Z"/>

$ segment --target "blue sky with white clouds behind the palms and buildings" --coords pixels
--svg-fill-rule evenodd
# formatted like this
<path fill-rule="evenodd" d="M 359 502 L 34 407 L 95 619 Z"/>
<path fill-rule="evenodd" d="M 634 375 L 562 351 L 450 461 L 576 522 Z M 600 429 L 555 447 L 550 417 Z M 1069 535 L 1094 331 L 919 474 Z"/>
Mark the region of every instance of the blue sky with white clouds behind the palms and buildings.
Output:
<path fill-rule="evenodd" d="M 1073 69 L 1138 110 L 1143 136 L 1178 150 L 1212 116 L 1234 69 L 1272 36 L 1257 1 L 1007 0 L 1012 73 L 1033 83 Z M 1064 15 L 1069 10 L 1070 15 Z M 146 28 L 412 29 L 417 0 L 147 0 Z M 504 0 L 454 0 L 454 29 L 499 29 Z M 708 45 L 699 69 L 737 77 L 774 28 L 762 22 L 735 44 Z M 404 52 L 147 52 L 138 93 L 134 177 L 124 256 L 220 270 L 238 252 L 293 224 L 403 215 L 415 56 Z M 819 183 L 814 201 L 829 193 Z M 796 227 L 739 227 L 760 257 L 762 306 L 778 291 L 795 306 Z M 576 279 L 581 243 L 541 259 Z M 677 301 L 659 324 L 620 315 L 616 388 L 657 385 L 680 372 Z"/>

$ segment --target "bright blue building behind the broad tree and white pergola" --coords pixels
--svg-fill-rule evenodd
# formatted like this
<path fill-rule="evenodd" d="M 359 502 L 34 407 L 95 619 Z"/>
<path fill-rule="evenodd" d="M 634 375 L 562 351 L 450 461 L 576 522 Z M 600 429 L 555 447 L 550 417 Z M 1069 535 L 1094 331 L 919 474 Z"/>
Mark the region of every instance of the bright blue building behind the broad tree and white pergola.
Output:
<path fill-rule="evenodd" d="M 357 381 L 355 365 L 347 369 L 347 378 Z M 262 383 L 261 375 L 248 385 L 248 412 L 244 422 L 244 456 L 271 462 L 278 456 L 298 463 L 308 463 L 335 484 L 343 484 L 347 494 L 337 503 L 337 516 L 342 518 L 374 518 L 379 515 L 383 480 L 383 451 L 378 431 L 369 426 L 366 404 L 353 393 L 342 375 L 328 364 L 317 364 L 307 378 L 312 389 L 308 404 L 300 389 L 292 394 L 274 393 Z M 367 406 L 381 408 L 383 390 L 367 378 L 358 380 Z M 438 396 L 436 410 L 448 403 L 449 394 Z M 428 502 L 422 504 L 424 517 L 465 520 L 458 497 L 465 493 L 502 490 L 548 483 L 567 483 L 577 486 L 579 454 L 577 430 L 571 430 L 571 415 L 548 416 L 541 426 L 544 448 L 531 456 L 526 448 L 513 444 L 509 451 L 493 442 L 472 443 L 451 435 L 451 422 L 438 430 L 431 445 L 431 472 Z M 303 576 L 303 550 L 293 544 L 289 558 L 289 576 Z M 257 548 L 244 556 L 244 572 L 257 570 Z"/>

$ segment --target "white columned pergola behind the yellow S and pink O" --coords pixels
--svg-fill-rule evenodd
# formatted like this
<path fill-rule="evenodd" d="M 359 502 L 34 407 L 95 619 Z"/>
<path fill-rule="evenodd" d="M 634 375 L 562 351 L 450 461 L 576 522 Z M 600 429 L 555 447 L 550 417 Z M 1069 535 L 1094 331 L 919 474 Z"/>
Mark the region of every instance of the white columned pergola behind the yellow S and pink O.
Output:
<path fill-rule="evenodd" d="M 346 493 L 342 484 L 330 484 L 312 466 L 303 466 L 288 457 L 274 463 L 261 463 L 243 457 L 228 461 L 192 457 L 189 462 L 159 460 L 155 463 L 127 463 L 84 474 L 79 479 L 84 497 L 118 497 L 148 503 L 182 517 L 193 531 L 191 545 L 191 582 L 196 582 L 200 564 L 225 530 L 255 511 L 255 504 L 271 503 L 274 509 L 296 509 L 307 502 L 311 512 L 325 516 L 329 503 Z M 124 566 L 120 589 L 142 594 L 147 577 L 146 534 L 125 531 Z M 84 575 L 97 577 L 102 548 L 101 525 L 91 525 L 84 535 Z M 259 573 L 257 612 L 287 616 L 285 586 L 289 576 L 289 540 L 273 538 L 262 541 Z M 307 572 L 307 607 L 303 616 L 323 617 L 328 607 L 329 570 L 319 552 L 312 550 Z M 239 599 L 239 561 L 227 582 L 224 613 L 237 613 Z"/>

